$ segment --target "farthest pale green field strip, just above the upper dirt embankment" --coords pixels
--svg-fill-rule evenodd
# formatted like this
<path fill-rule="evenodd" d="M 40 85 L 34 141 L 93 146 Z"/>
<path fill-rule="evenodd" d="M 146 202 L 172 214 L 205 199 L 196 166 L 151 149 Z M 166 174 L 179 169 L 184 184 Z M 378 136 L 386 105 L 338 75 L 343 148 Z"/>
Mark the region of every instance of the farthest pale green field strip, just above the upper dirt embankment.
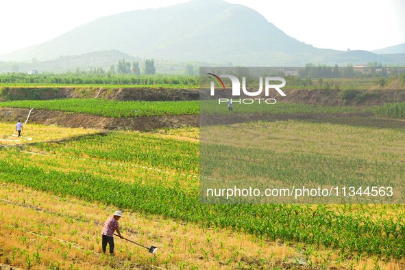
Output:
<path fill-rule="evenodd" d="M 326 78 L 297 80 L 295 77 L 285 77 L 287 80 L 286 89 L 310 89 L 310 90 L 370 90 L 370 89 L 395 89 L 404 90 L 403 79 L 390 77 L 370 78 Z M 180 75 L 143 75 L 134 77 L 133 75 L 116 75 L 107 77 L 106 75 L 0 75 L 1 87 L 76 87 L 76 88 L 138 88 L 151 87 L 160 88 L 168 87 L 174 89 L 198 89 L 199 77 L 180 76 Z"/>

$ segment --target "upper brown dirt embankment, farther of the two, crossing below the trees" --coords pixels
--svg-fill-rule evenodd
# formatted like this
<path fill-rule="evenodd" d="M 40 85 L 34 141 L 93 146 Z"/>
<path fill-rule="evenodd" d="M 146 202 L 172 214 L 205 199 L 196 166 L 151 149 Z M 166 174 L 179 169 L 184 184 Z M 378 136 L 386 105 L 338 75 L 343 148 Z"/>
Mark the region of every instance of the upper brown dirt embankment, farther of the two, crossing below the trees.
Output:
<path fill-rule="evenodd" d="M 217 90 L 215 98 L 227 98 L 230 89 Z M 405 102 L 405 90 L 284 90 L 286 96 L 271 92 L 271 98 L 278 102 L 305 103 L 312 105 L 383 105 L 385 103 Z M 201 96 L 200 96 L 201 94 Z M 5 87 L 0 91 L 1 100 L 49 100 L 58 98 L 106 98 L 110 100 L 199 100 L 210 99 L 210 90 L 171 88 L 13 88 Z M 241 96 L 241 98 L 252 98 Z M 261 98 L 266 98 L 262 96 Z"/>

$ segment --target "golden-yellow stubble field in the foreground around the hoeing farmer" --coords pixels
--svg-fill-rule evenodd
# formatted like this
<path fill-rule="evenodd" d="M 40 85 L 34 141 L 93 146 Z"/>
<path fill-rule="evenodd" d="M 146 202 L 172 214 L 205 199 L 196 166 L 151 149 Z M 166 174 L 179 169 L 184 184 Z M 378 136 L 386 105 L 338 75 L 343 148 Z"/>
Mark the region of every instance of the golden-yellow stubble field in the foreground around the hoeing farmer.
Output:
<path fill-rule="evenodd" d="M 18 185 L 0 185 L 1 263 L 24 269 L 404 269 L 405 262 L 340 258 L 242 232 L 200 228 L 156 215 L 124 213 L 123 235 L 155 245 L 153 256 L 116 238 L 116 256 L 101 254 L 101 228 L 114 208 L 60 198 Z M 30 262 L 28 262 L 30 261 Z"/>

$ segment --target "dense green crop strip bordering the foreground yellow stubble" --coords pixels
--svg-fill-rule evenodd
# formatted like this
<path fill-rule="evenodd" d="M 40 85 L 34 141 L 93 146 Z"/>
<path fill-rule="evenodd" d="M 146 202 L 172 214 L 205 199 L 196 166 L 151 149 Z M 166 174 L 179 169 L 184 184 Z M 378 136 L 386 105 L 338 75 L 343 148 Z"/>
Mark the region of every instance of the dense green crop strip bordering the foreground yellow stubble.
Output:
<path fill-rule="evenodd" d="M 85 173 L 45 172 L 35 165 L 14 161 L 0 161 L 0 176 L 5 183 L 143 214 L 243 230 L 272 240 L 339 248 L 343 254 L 360 252 L 393 258 L 405 255 L 405 226 L 393 219 L 373 221 L 356 214 L 341 215 L 321 205 L 200 204 L 197 190 L 184 191 L 181 186 L 134 185 Z"/>

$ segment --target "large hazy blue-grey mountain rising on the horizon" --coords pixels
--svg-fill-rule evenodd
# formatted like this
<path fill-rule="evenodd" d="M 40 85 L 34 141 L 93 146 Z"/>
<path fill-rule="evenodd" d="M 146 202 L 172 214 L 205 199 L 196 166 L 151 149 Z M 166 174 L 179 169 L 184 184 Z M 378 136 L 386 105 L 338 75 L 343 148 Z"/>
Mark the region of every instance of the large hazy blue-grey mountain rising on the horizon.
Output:
<path fill-rule="evenodd" d="M 404 64 L 395 55 L 314 48 L 286 35 L 255 10 L 221 0 L 194 0 L 98 18 L 48 42 L 2 55 L 0 60 L 47 61 L 109 50 L 132 57 L 217 65 Z"/>

